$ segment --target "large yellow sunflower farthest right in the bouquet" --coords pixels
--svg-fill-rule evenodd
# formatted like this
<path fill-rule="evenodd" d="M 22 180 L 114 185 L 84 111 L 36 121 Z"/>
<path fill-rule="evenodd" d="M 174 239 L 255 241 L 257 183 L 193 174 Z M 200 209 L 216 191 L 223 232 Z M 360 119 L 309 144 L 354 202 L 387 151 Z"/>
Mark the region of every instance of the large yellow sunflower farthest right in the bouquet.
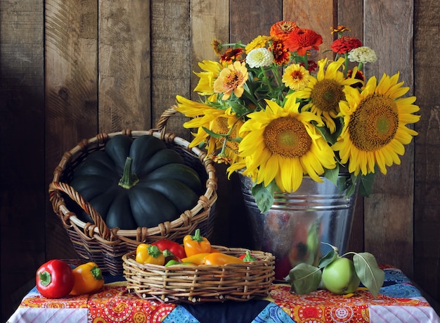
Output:
<path fill-rule="evenodd" d="M 418 134 L 406 125 L 420 120 L 420 115 L 413 115 L 420 109 L 413 104 L 415 96 L 401 97 L 409 88 L 398 80 L 399 73 L 384 74 L 379 84 L 371 77 L 361 92 L 344 89 L 347 102 L 340 105 L 344 127 L 332 148 L 339 151 L 342 163 L 349 162 L 349 172 L 354 175 L 375 172 L 375 165 L 387 174 L 386 166 L 399 165 L 403 145 Z"/>

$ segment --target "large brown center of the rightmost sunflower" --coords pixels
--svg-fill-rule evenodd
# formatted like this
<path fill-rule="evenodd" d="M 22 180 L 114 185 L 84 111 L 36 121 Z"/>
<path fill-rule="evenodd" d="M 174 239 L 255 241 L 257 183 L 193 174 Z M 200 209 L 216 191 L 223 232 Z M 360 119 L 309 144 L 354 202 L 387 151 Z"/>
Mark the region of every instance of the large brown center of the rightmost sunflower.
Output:
<path fill-rule="evenodd" d="M 351 116 L 349 134 L 362 151 L 377 151 L 388 144 L 399 127 L 399 113 L 392 99 L 373 95 L 361 101 Z"/>

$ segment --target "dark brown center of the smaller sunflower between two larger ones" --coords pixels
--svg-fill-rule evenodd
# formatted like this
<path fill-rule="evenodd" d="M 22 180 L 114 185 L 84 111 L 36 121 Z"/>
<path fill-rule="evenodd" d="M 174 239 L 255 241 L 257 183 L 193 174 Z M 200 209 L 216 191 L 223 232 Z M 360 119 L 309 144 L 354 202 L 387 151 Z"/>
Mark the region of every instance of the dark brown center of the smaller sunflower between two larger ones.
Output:
<path fill-rule="evenodd" d="M 344 99 L 344 92 L 335 80 L 318 81 L 311 91 L 313 104 L 323 111 L 336 110 L 339 101 Z"/>

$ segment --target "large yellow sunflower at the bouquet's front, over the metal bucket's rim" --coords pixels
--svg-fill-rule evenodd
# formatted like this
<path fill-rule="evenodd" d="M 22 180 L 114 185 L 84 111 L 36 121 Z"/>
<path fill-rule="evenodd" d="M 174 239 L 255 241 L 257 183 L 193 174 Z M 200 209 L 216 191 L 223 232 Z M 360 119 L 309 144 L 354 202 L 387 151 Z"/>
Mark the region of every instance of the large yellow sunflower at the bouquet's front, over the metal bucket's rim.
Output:
<path fill-rule="evenodd" d="M 299 113 L 295 96 L 283 108 L 274 101 L 266 103 L 266 109 L 250 113 L 240 129 L 240 134 L 246 132 L 239 145 L 246 162 L 243 174 L 264 186 L 275 179 L 278 189 L 286 192 L 296 191 L 305 174 L 322 182 L 318 175 L 336 165 L 334 152 L 311 123 L 322 124 L 321 118 Z"/>

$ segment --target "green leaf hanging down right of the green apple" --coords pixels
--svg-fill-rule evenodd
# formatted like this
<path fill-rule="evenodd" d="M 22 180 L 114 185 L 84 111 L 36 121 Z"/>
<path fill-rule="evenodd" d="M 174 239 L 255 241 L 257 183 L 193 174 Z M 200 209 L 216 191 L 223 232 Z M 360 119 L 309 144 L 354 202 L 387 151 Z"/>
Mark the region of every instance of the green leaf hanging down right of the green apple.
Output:
<path fill-rule="evenodd" d="M 377 297 L 377 293 L 384 284 L 385 273 L 377 265 L 375 256 L 371 253 L 354 253 L 353 262 L 361 283 L 370 290 L 374 297 Z"/>

